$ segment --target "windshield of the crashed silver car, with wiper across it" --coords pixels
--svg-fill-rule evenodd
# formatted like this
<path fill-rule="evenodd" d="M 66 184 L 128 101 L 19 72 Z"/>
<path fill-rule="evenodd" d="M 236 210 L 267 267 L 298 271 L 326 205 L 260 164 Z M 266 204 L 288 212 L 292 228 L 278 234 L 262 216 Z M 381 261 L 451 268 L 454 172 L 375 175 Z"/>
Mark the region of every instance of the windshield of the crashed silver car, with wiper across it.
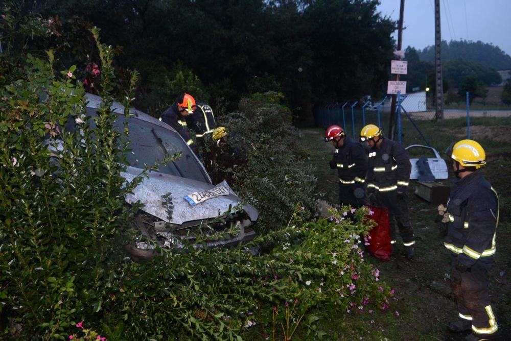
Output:
<path fill-rule="evenodd" d="M 87 112 L 96 115 L 95 109 L 87 108 Z M 125 121 L 128 123 L 130 141 L 128 148 L 131 150 L 127 154 L 129 166 L 144 168 L 145 165 L 152 165 L 167 155 L 182 152 L 178 159 L 160 165 L 159 172 L 210 183 L 196 157 L 178 133 L 136 117 L 126 118 L 124 115 L 119 115 L 115 119 L 115 128 L 120 132 L 124 131 Z M 93 126 L 94 123 L 91 121 L 91 128 L 94 128 Z"/>

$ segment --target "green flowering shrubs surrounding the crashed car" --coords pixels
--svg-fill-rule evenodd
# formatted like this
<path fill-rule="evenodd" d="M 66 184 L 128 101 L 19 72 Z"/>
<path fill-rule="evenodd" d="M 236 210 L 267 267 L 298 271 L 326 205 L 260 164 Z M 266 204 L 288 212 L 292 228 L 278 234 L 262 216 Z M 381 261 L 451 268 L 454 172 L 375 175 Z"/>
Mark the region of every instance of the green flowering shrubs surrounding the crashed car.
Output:
<path fill-rule="evenodd" d="M 97 47 L 97 116 L 87 116 L 75 67 L 56 70 L 51 50 L 47 60 L 28 55 L 0 89 L 1 337 L 67 339 L 80 329 L 110 340 L 316 338 L 323 314 L 385 308 L 389 288 L 363 259 L 367 211 L 354 212 L 356 223 L 341 212 L 311 221 L 296 206 L 313 181 L 296 163 L 296 132 L 275 94 L 253 96 L 229 119 L 246 129 L 253 169 L 236 170 L 238 189 L 259 204 L 267 233 L 230 249 L 188 245 L 129 260 L 122 250 L 139 205 L 124 197 L 142 177 L 121 176 L 129 132 L 113 129 L 112 50 Z M 67 130 L 68 120 L 79 129 Z M 267 252 L 253 255 L 256 247 Z"/>

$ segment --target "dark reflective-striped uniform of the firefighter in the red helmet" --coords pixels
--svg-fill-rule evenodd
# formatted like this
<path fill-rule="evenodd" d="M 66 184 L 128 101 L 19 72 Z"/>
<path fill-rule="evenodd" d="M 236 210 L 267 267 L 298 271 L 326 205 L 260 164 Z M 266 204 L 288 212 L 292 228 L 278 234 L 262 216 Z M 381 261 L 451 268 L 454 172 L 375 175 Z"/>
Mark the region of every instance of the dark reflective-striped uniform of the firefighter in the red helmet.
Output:
<path fill-rule="evenodd" d="M 358 208 L 365 204 L 365 176 L 367 156 L 360 143 L 344 137 L 342 147 L 335 150 L 331 162 L 339 175 L 339 203 Z"/>

